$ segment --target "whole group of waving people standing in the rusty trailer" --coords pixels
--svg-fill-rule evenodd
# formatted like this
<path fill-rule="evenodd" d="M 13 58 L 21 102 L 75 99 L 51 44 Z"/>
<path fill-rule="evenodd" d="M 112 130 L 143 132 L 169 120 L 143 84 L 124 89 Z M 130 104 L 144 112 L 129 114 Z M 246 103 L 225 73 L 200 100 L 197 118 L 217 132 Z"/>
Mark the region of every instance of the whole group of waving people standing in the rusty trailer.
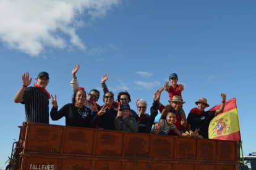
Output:
<path fill-rule="evenodd" d="M 32 82 L 32 78 L 29 78 L 29 73 L 22 75 L 22 87 L 15 95 L 14 102 L 25 105 L 25 114 L 28 121 L 49 124 L 49 99 L 52 98 L 51 119 L 57 121 L 65 117 L 66 126 L 208 139 L 208 126 L 211 119 L 224 110 L 225 94 L 221 94 L 223 99 L 221 107 L 215 111 L 204 111 L 209 105 L 207 99 L 200 98 L 195 102 L 197 108 L 193 108 L 186 118 L 182 108 L 182 105 L 186 102 L 183 102 L 181 96 L 184 86 L 177 84 L 176 73 L 169 76 L 170 86 L 169 82 L 166 81 L 163 87 L 154 92 L 150 115 L 145 113 L 148 104 L 143 99 L 139 99 L 136 102 L 138 114 L 130 109 L 129 103 L 131 99 L 127 91 L 120 91 L 115 101 L 113 92 L 108 91 L 106 86 L 108 75 L 103 75 L 101 78 L 101 86 L 104 92 L 103 102 L 105 104 L 100 106 L 96 103 L 100 99 L 98 90 L 92 89 L 88 93 L 87 99 L 85 89 L 79 86 L 76 77 L 79 67 L 80 65 L 76 65 L 72 70 L 72 81 L 70 82 L 74 91 L 72 103 L 64 105 L 59 110 L 57 96 L 50 96 L 45 89 L 49 83 L 48 73 L 45 71 L 40 72 L 36 78 L 36 83 L 33 84 L 34 87 L 28 87 Z M 160 103 L 160 95 L 164 88 L 169 94 L 168 104 L 165 106 Z M 158 110 L 161 112 L 161 119 L 155 120 Z M 153 126 L 155 121 L 157 123 Z M 189 133 L 186 133 L 186 131 Z"/>

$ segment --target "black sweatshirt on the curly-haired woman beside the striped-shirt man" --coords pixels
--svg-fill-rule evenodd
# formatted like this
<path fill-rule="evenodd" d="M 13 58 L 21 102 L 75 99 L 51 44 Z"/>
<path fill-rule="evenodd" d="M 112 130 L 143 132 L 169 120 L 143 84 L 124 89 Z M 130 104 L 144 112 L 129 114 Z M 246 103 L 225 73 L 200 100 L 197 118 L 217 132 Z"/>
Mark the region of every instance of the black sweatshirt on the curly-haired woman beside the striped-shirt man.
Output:
<path fill-rule="evenodd" d="M 66 126 L 75 127 L 92 127 L 93 119 L 92 110 L 83 105 L 83 108 L 78 108 L 74 103 L 64 105 L 59 111 L 58 108 L 51 108 L 51 119 L 58 120 L 63 116 L 66 117 Z"/>

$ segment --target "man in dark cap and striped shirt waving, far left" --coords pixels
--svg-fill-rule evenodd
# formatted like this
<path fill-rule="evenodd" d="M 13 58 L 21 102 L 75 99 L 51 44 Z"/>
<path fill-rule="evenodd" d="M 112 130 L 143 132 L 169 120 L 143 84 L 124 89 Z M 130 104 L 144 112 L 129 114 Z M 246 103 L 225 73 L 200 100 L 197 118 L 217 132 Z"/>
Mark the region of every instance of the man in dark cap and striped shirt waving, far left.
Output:
<path fill-rule="evenodd" d="M 40 72 L 36 78 L 35 87 L 27 87 L 32 82 L 29 73 L 22 75 L 22 87 L 15 94 L 14 102 L 25 105 L 27 121 L 49 124 L 49 99 L 50 95 L 45 87 L 49 83 L 49 75 Z"/>

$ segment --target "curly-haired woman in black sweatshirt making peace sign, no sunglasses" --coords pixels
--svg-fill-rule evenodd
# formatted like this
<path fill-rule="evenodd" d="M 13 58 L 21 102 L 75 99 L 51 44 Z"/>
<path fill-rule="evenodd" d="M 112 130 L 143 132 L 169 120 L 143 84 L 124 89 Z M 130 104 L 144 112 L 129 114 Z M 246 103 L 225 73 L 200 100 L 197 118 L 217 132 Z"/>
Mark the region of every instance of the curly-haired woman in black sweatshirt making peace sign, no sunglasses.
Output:
<path fill-rule="evenodd" d="M 53 98 L 53 95 L 51 95 Z M 93 115 L 98 113 L 96 105 L 92 110 L 88 107 L 85 107 L 83 103 L 86 100 L 86 92 L 83 87 L 79 87 L 77 91 L 74 92 L 74 97 L 72 98 L 72 103 L 64 105 L 58 111 L 58 104 L 55 98 L 51 100 L 53 108 L 51 108 L 51 119 L 56 121 L 62 117 L 66 117 L 66 126 L 75 126 L 75 127 L 95 127 L 96 123 L 92 123 Z M 95 104 L 95 103 L 94 103 Z"/>

